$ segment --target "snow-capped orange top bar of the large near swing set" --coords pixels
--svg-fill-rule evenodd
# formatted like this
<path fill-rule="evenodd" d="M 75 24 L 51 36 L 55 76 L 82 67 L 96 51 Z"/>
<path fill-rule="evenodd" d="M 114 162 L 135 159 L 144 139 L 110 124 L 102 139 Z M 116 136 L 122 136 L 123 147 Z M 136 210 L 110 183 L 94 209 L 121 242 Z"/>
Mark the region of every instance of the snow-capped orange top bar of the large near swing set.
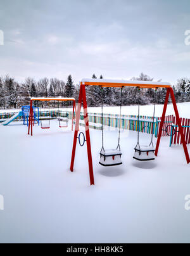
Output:
<path fill-rule="evenodd" d="M 132 80 L 110 80 L 110 79 L 82 79 L 80 85 L 102 86 L 102 87 L 141 87 L 141 88 L 170 88 L 169 82 L 149 82 Z"/>

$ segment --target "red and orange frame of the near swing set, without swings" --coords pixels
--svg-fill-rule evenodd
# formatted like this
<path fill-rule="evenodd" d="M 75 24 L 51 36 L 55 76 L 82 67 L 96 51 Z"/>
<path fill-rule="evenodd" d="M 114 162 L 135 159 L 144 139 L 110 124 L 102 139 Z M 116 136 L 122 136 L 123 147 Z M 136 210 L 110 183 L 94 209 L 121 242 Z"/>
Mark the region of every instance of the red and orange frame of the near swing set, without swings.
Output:
<path fill-rule="evenodd" d="M 91 185 L 94 185 L 94 172 L 93 172 L 93 166 L 92 166 L 92 152 L 91 152 L 91 139 L 90 139 L 90 132 L 89 132 L 89 118 L 87 113 L 87 101 L 86 101 L 86 93 L 85 93 L 85 86 L 102 86 L 102 87 L 140 87 L 140 88 L 167 88 L 167 94 L 165 98 L 165 104 L 163 107 L 163 113 L 162 113 L 162 120 L 160 122 L 160 129 L 158 132 L 158 139 L 156 144 L 156 150 L 155 155 L 158 155 L 158 150 L 160 146 L 160 139 L 162 136 L 162 129 L 163 129 L 163 123 L 165 121 L 165 114 L 167 111 L 167 105 L 168 105 L 168 99 L 169 96 L 172 98 L 172 103 L 174 106 L 175 116 L 177 120 L 177 125 L 179 127 L 179 133 L 181 134 L 181 140 L 184 148 L 184 153 L 186 155 L 187 163 L 190 162 L 189 153 L 187 150 L 187 144 L 184 138 L 183 129 L 181 125 L 181 120 L 179 117 L 179 112 L 177 110 L 177 105 L 175 101 L 174 91 L 172 89 L 172 86 L 168 82 L 147 82 L 147 81 L 127 81 L 127 80 L 106 80 L 106 79 L 82 79 L 80 82 L 80 93 L 79 93 L 79 104 L 77 109 L 77 117 L 76 117 L 76 125 L 75 125 L 75 135 L 73 139 L 73 150 L 72 150 L 72 159 L 71 159 L 71 165 L 70 170 L 73 172 L 73 166 L 75 162 L 75 151 L 77 146 L 77 138 L 78 138 L 78 132 L 79 132 L 79 120 L 80 120 L 80 111 L 81 111 L 81 104 L 83 102 L 84 106 L 84 120 L 85 120 L 85 135 L 86 135 L 86 142 L 87 142 L 87 155 L 88 155 L 88 161 L 89 161 L 89 176 L 90 176 L 90 182 Z"/>

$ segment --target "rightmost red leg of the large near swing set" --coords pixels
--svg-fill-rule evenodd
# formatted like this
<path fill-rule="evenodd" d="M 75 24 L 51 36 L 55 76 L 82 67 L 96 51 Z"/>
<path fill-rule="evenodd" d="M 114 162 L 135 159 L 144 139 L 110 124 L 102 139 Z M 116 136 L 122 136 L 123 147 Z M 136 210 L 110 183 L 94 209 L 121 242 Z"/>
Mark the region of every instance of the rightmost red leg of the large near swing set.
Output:
<path fill-rule="evenodd" d="M 184 147 L 184 152 L 185 152 L 185 155 L 186 155 L 186 160 L 187 160 L 187 163 L 190 163 L 189 153 L 188 153 L 188 150 L 187 150 L 187 144 L 186 144 L 186 140 L 185 140 L 183 129 L 182 129 L 182 125 L 181 125 L 181 120 L 179 118 L 179 112 L 177 110 L 177 104 L 176 104 L 176 101 L 175 101 L 174 91 L 173 91 L 172 88 L 170 88 L 170 94 L 171 94 L 172 103 L 173 103 L 173 106 L 174 106 L 174 111 L 175 111 L 175 116 L 176 116 L 176 120 L 177 120 L 177 125 L 179 127 L 179 132 L 181 134 L 181 140 L 182 140 L 182 144 L 183 144 L 183 147 Z"/>

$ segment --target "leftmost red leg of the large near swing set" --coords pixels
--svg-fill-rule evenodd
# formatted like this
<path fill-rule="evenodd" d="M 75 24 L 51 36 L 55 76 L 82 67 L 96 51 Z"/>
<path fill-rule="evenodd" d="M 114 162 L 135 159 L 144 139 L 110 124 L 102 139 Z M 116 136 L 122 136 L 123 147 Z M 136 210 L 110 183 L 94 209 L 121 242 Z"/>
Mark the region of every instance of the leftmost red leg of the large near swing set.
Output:
<path fill-rule="evenodd" d="M 77 146 L 77 136 L 79 132 L 79 121 L 80 121 L 80 110 L 82 104 L 82 87 L 80 86 L 80 93 L 79 93 L 79 103 L 78 103 L 78 110 L 76 116 L 76 123 L 75 123 L 75 134 L 73 139 L 73 150 L 72 150 L 72 160 L 70 164 L 70 170 L 73 172 L 74 162 L 75 162 L 75 151 Z"/>

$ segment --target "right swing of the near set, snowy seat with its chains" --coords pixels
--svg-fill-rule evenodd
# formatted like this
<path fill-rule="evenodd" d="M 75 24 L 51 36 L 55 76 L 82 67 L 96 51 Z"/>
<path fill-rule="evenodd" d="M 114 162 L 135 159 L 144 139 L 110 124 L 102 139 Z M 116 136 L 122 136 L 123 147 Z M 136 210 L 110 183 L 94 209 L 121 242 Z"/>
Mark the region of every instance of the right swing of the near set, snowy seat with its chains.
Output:
<path fill-rule="evenodd" d="M 140 118 L 140 87 L 139 91 L 139 104 L 138 104 L 138 121 L 137 121 L 137 144 L 135 147 L 134 159 L 139 161 L 151 161 L 155 160 L 155 147 L 153 145 L 153 131 L 155 125 L 155 109 L 156 109 L 156 101 L 154 105 L 154 114 L 153 114 L 153 123 L 152 123 L 152 131 L 151 131 L 151 143 L 148 146 L 140 146 L 139 144 L 139 118 Z M 157 88 L 156 88 L 157 91 Z"/>

